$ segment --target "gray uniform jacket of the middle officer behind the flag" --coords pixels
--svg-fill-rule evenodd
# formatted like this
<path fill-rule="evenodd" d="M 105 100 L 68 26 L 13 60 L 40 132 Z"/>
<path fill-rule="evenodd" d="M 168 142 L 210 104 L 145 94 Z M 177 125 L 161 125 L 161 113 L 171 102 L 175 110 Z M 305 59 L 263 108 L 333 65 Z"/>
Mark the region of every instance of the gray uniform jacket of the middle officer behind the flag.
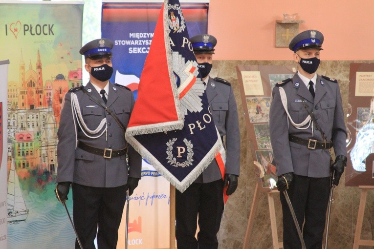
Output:
<path fill-rule="evenodd" d="M 240 131 L 238 110 L 231 85 L 209 77 L 206 94 L 214 124 L 221 138 L 226 136 L 226 174 L 240 174 Z M 216 160 L 202 172 L 196 183 L 210 183 L 222 179 Z"/>

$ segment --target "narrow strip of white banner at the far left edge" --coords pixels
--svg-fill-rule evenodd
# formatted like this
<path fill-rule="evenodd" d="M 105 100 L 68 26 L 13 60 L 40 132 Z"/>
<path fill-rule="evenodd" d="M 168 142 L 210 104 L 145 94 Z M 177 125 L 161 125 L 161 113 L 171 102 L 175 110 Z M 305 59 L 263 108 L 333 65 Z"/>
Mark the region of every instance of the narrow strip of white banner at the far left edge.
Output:
<path fill-rule="evenodd" d="M 1 59 L 1 56 L 0 56 Z M 6 249 L 8 243 L 6 208 L 6 179 L 7 179 L 7 86 L 9 60 L 0 61 L 0 248 Z M 5 120 L 5 125 L 3 121 Z"/>

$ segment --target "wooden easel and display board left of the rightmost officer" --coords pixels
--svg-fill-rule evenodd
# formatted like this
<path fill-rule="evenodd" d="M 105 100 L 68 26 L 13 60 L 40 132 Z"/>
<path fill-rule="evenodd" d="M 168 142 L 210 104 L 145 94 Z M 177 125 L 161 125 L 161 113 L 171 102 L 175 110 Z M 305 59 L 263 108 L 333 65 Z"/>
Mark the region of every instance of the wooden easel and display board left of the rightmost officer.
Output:
<path fill-rule="evenodd" d="M 274 207 L 274 193 L 279 193 L 279 191 L 270 189 L 270 182 L 276 182 L 277 177 L 276 168 L 271 164 L 273 151 L 270 144 L 268 122 L 273 86 L 277 82 L 292 78 L 296 68 L 276 65 L 246 65 L 237 66 L 236 68 L 245 115 L 245 125 L 251 142 L 251 152 L 257 178 L 243 249 L 248 248 L 250 242 L 261 193 L 267 193 L 273 248 L 283 248 L 283 243 L 278 241 Z"/>

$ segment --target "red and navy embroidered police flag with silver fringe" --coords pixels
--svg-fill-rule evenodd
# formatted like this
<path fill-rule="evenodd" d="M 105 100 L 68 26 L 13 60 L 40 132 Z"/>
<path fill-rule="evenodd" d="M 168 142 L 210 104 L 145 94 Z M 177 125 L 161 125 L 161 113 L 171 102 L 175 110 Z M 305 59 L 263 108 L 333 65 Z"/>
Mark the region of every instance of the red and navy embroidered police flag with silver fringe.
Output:
<path fill-rule="evenodd" d="M 182 192 L 222 145 L 204 89 L 179 1 L 165 0 L 126 139 Z"/>

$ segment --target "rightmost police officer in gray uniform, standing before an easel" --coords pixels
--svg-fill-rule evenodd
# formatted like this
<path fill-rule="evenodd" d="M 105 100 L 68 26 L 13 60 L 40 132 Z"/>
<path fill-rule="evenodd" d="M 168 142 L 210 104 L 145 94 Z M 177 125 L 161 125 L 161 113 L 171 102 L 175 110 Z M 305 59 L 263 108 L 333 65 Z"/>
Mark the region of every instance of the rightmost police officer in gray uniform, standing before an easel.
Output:
<path fill-rule="evenodd" d="M 269 117 L 277 187 L 288 192 L 307 248 L 322 248 L 330 175 L 335 171 L 334 185 L 338 185 L 347 163 L 339 85 L 316 74 L 323 39 L 317 30 L 304 31 L 292 39 L 289 49 L 294 52 L 298 72 L 274 86 Z M 330 147 L 336 155 L 332 165 Z M 299 249 L 301 242 L 285 196 L 280 196 L 284 248 Z"/>

